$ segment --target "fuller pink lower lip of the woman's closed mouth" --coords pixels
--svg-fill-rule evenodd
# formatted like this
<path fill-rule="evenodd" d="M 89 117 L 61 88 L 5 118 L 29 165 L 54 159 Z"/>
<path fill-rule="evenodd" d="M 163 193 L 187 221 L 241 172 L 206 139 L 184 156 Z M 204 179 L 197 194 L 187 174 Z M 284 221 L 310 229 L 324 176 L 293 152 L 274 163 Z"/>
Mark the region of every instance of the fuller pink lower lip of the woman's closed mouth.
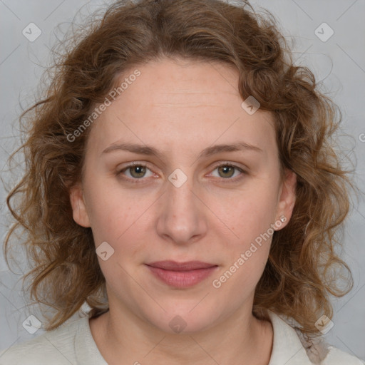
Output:
<path fill-rule="evenodd" d="M 155 274 L 155 277 L 158 277 L 158 279 L 165 284 L 170 285 L 170 287 L 188 288 L 193 287 L 209 277 L 213 272 L 215 272 L 217 266 L 190 271 L 171 271 L 153 266 L 148 266 L 148 269 Z"/>

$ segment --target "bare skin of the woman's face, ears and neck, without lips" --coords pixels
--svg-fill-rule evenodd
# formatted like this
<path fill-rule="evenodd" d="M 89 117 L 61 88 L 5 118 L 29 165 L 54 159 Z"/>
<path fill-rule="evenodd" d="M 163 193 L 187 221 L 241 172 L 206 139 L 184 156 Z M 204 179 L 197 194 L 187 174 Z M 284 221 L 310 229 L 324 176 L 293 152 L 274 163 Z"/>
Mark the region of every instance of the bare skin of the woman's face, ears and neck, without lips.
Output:
<path fill-rule="evenodd" d="M 73 219 L 92 228 L 96 247 L 108 242 L 114 250 L 106 261 L 98 257 L 110 310 L 90 320 L 93 338 L 109 364 L 268 364 L 272 326 L 252 316 L 252 303 L 271 237 L 219 288 L 212 280 L 279 217 L 287 220 L 276 230 L 292 215 L 296 176 L 287 171 L 280 180 L 272 115 L 242 108 L 231 66 L 163 58 L 138 70 L 93 123 L 83 182 L 71 190 Z M 242 141 L 262 152 L 198 158 L 204 148 Z M 153 146 L 161 158 L 103 153 L 122 142 Z M 123 170 L 132 162 L 146 164 L 145 175 Z M 168 179 L 175 169 L 187 178 L 180 187 Z M 160 260 L 218 267 L 199 284 L 177 289 L 145 266 Z M 175 316 L 186 324 L 179 334 L 169 326 Z"/>

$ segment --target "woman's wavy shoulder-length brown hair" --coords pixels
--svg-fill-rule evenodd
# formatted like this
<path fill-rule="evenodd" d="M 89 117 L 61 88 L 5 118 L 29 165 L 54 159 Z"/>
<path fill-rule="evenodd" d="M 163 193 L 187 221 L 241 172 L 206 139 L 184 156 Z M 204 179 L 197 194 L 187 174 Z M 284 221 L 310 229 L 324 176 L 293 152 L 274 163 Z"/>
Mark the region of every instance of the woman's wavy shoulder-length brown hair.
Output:
<path fill-rule="evenodd" d="M 302 333 L 317 336 L 317 319 L 332 318 L 329 295 L 341 297 L 352 289 L 351 270 L 336 252 L 354 187 L 334 148 L 341 111 L 319 92 L 307 67 L 294 66 L 274 16 L 240 3 L 115 1 L 55 53 L 46 93 L 19 118 L 26 120 L 26 139 L 11 158 L 23 151 L 25 173 L 6 199 L 15 220 L 4 242 L 9 266 L 11 237 L 24 232 L 30 297 L 54 309 L 46 330 L 66 322 L 85 302 L 89 317 L 108 310 L 91 228 L 73 220 L 69 191 L 82 181 L 92 126 L 77 138 L 75 131 L 118 86 L 120 75 L 163 57 L 237 68 L 242 100 L 253 96 L 260 110 L 274 115 L 282 172 L 297 175 L 292 218 L 274 232 L 252 313 L 265 318 L 269 309 L 294 319 Z M 338 282 L 342 269 L 344 288 Z"/>

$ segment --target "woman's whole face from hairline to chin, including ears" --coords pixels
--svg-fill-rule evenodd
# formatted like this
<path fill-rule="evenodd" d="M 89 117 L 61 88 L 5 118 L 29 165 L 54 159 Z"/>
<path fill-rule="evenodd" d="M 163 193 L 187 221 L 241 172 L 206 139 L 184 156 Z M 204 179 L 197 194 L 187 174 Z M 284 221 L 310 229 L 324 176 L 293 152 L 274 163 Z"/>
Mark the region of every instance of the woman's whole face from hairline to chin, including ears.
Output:
<path fill-rule="evenodd" d="M 235 68 L 165 58 L 138 70 L 91 127 L 73 218 L 93 231 L 110 312 L 209 329 L 251 313 L 295 175 L 280 179 L 272 115 L 242 108 Z"/>

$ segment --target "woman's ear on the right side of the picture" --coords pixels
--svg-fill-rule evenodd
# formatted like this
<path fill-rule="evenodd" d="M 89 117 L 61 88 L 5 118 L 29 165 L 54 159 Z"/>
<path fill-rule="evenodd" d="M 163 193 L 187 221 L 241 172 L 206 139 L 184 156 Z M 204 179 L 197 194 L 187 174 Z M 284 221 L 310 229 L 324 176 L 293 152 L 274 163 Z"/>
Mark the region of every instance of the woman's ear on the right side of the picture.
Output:
<path fill-rule="evenodd" d="M 282 182 L 281 192 L 279 194 L 279 202 L 277 205 L 277 216 L 275 222 L 280 222 L 281 224 L 276 230 L 282 230 L 290 218 L 292 217 L 292 212 L 296 200 L 296 187 L 297 187 L 297 175 L 289 169 L 285 169 L 285 177 Z M 282 220 L 280 220 L 282 219 Z"/>

